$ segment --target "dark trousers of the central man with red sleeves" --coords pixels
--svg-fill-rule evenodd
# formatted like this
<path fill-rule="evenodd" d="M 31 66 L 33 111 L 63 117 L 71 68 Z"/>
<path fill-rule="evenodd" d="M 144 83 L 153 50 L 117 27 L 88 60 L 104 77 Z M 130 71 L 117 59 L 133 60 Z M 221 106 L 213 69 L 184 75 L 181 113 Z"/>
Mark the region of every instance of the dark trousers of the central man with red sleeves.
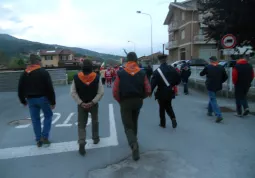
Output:
<path fill-rule="evenodd" d="M 137 143 L 138 116 L 143 99 L 132 98 L 120 102 L 120 113 L 129 146 Z"/>

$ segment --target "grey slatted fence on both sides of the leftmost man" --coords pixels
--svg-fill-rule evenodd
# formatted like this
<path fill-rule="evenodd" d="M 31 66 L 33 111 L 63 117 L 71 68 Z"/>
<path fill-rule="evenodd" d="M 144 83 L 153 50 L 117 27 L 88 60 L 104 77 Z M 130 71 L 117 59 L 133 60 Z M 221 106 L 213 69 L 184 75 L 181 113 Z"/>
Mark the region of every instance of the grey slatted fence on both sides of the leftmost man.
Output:
<path fill-rule="evenodd" d="M 67 84 L 67 74 L 65 68 L 48 69 L 54 85 Z M 13 92 L 18 89 L 18 82 L 23 71 L 3 71 L 0 72 L 0 92 Z"/>

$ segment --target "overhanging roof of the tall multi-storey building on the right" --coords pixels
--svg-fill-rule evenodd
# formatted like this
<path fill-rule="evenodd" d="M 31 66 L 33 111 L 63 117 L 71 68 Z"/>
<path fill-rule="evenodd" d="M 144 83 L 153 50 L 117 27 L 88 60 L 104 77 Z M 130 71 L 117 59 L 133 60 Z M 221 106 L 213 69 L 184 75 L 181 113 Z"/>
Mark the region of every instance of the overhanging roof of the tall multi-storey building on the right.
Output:
<path fill-rule="evenodd" d="M 187 1 L 184 1 L 184 2 L 172 2 L 172 3 L 170 3 L 169 11 L 168 11 L 168 14 L 166 16 L 164 25 L 169 25 L 169 21 L 170 21 L 172 15 L 173 15 L 173 13 L 172 13 L 173 8 L 178 8 L 178 9 L 181 9 L 181 10 L 184 10 L 184 11 L 197 10 L 196 7 L 189 5 L 188 4 L 189 2 L 192 2 L 192 0 L 187 0 Z"/>

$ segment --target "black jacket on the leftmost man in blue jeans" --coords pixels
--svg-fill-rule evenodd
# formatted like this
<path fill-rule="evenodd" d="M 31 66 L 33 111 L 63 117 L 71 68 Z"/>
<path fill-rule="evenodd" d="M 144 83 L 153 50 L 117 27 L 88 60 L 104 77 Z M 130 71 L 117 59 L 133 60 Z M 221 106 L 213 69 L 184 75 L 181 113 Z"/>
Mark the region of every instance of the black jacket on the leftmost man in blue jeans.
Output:
<path fill-rule="evenodd" d="M 43 68 L 30 73 L 24 71 L 19 79 L 18 96 L 22 104 L 27 103 L 26 98 L 45 96 L 51 105 L 55 105 L 55 92 L 48 71 Z"/>

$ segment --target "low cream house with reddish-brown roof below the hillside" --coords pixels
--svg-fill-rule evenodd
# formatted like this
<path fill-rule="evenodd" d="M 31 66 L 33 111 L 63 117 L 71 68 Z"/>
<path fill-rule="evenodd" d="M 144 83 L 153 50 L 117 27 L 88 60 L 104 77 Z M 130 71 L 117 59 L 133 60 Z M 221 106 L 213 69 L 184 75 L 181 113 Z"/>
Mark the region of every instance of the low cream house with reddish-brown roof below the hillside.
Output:
<path fill-rule="evenodd" d="M 79 65 L 80 60 L 74 59 L 74 53 L 68 49 L 40 50 L 43 67 L 59 67 L 66 65 Z"/>

